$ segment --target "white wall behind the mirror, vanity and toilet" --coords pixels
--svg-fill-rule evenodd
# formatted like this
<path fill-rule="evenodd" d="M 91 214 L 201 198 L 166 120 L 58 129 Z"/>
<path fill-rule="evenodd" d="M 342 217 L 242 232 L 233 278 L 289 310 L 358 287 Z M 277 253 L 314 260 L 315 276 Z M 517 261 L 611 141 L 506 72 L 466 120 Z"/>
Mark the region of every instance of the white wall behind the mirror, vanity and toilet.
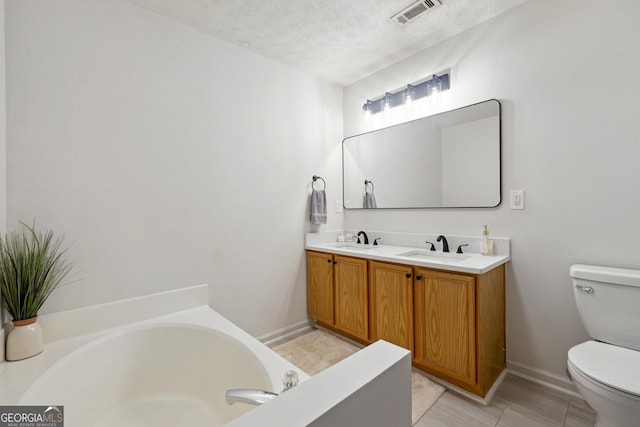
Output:
<path fill-rule="evenodd" d="M 531 0 L 344 90 L 345 135 L 369 130 L 364 100 L 449 67 L 441 109 L 502 102 L 499 208 L 347 211 L 345 226 L 480 235 L 488 224 L 511 237 L 507 358 L 558 381 L 567 350 L 587 338 L 569 266 L 640 268 L 638 16 L 631 0 Z M 509 210 L 513 189 L 524 211 Z"/>

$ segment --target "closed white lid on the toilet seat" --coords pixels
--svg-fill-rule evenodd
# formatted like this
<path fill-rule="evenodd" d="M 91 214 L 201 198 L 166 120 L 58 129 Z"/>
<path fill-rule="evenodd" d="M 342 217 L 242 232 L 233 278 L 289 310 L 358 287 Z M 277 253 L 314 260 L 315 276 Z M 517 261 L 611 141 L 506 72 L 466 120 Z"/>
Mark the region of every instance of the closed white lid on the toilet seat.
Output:
<path fill-rule="evenodd" d="M 569 350 L 569 361 L 595 381 L 640 396 L 640 351 L 597 341 Z"/>

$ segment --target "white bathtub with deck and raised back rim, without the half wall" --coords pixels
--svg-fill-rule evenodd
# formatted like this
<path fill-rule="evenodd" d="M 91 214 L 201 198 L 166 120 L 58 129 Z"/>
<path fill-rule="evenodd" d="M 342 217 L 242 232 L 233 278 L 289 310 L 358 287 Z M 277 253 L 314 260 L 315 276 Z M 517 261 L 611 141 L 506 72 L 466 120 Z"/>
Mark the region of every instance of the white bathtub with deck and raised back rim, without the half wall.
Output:
<path fill-rule="evenodd" d="M 208 299 L 200 285 L 39 317 L 45 350 L 0 359 L 0 405 L 62 405 L 66 427 L 221 426 L 255 409 L 227 389 L 309 378 Z"/>

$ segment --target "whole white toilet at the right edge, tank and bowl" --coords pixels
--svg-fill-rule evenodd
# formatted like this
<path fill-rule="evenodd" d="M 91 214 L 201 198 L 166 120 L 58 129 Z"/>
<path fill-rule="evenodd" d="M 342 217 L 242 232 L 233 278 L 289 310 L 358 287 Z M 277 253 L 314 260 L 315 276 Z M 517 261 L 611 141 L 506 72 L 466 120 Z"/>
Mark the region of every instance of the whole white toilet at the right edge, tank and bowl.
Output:
<path fill-rule="evenodd" d="M 576 264 L 573 295 L 590 341 L 572 347 L 573 383 L 597 427 L 640 425 L 640 270 Z"/>

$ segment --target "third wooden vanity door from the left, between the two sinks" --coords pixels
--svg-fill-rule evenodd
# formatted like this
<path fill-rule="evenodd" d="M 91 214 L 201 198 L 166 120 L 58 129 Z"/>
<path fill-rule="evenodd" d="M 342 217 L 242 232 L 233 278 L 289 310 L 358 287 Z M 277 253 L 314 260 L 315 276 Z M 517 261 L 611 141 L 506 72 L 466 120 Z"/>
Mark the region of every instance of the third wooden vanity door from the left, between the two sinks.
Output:
<path fill-rule="evenodd" d="M 369 262 L 369 335 L 413 351 L 413 268 Z"/>

